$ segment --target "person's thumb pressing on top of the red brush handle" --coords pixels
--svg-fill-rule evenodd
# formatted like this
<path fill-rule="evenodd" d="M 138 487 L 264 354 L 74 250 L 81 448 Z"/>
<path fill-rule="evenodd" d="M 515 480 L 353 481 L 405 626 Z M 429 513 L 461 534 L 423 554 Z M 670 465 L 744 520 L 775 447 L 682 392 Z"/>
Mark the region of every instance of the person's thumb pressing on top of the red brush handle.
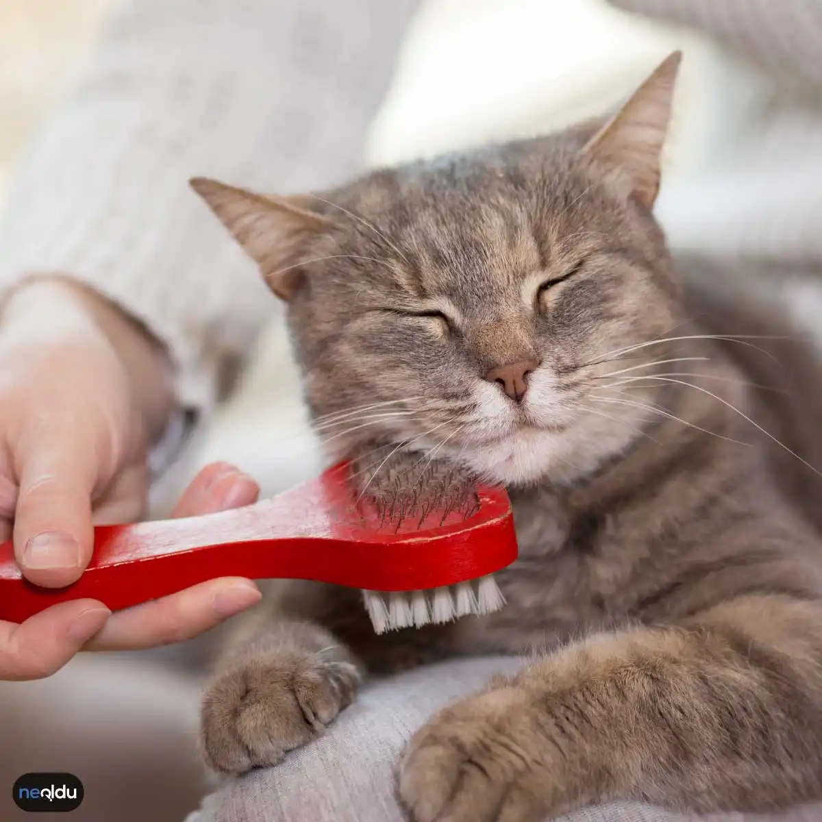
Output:
<path fill-rule="evenodd" d="M 20 491 L 14 520 L 14 553 L 27 580 L 62 588 L 77 580 L 91 558 L 94 526 L 91 490 L 96 449 L 76 436 L 50 429 L 16 455 Z M 72 434 L 74 436 L 72 436 Z"/>

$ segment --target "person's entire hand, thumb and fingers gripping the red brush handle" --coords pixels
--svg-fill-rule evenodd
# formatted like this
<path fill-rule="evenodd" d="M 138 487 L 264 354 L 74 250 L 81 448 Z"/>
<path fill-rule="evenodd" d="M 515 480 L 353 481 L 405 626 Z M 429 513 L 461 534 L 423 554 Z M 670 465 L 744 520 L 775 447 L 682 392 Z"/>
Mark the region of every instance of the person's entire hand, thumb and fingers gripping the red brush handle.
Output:
<path fill-rule="evenodd" d="M 95 523 L 141 518 L 146 455 L 172 408 L 164 351 L 109 302 L 55 279 L 12 295 L 0 321 L 0 539 L 13 536 L 26 579 L 71 584 L 90 560 Z M 206 500 L 197 488 L 209 477 Z M 220 493 L 228 496 L 219 501 Z M 240 506 L 250 494 L 256 486 L 236 470 L 219 483 L 210 473 L 192 483 L 178 515 Z M 228 616 L 215 615 L 225 610 L 217 593 L 244 596 L 239 611 L 259 596 L 250 585 L 215 580 L 110 621 L 100 603 L 62 603 L 19 628 L 2 626 L 0 679 L 48 676 L 95 635 L 92 647 L 112 649 L 195 635 Z"/>

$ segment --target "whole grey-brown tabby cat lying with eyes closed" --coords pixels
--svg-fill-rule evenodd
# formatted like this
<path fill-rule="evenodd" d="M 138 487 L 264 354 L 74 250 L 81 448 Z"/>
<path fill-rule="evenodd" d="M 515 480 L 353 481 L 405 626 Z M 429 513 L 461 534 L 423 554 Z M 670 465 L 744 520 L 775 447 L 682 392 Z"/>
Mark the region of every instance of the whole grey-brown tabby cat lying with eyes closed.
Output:
<path fill-rule="evenodd" d="M 414 735 L 413 820 L 822 797 L 820 537 L 652 214 L 679 62 L 604 122 L 321 196 L 192 181 L 287 302 L 329 456 L 377 498 L 428 462 L 501 483 L 520 545 L 501 612 L 423 630 L 377 636 L 358 592 L 273 584 L 205 694 L 213 769 L 279 762 L 366 672 L 538 649 Z"/>

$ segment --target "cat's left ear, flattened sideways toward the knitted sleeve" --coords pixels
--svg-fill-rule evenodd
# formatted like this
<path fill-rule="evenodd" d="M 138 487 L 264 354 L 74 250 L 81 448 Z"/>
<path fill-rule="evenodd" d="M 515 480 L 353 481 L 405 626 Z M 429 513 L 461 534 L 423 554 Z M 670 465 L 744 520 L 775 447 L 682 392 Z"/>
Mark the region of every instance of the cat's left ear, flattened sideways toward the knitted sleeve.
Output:
<path fill-rule="evenodd" d="M 288 300 L 299 284 L 300 253 L 331 220 L 310 210 L 306 197 L 262 196 L 203 177 L 188 184 L 260 266 L 269 288 Z"/>

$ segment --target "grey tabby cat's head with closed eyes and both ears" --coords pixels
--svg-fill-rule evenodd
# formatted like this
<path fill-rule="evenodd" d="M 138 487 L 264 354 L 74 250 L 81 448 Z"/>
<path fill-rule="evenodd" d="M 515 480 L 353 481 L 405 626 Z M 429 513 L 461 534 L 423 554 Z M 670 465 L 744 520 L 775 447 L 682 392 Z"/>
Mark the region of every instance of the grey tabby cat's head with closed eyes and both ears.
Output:
<path fill-rule="evenodd" d="M 681 321 L 651 215 L 678 63 L 601 127 L 321 195 L 192 181 L 288 302 L 331 453 L 402 444 L 517 484 L 630 445 L 647 409 L 598 398 L 603 375 L 640 362 L 628 349 Z"/>

